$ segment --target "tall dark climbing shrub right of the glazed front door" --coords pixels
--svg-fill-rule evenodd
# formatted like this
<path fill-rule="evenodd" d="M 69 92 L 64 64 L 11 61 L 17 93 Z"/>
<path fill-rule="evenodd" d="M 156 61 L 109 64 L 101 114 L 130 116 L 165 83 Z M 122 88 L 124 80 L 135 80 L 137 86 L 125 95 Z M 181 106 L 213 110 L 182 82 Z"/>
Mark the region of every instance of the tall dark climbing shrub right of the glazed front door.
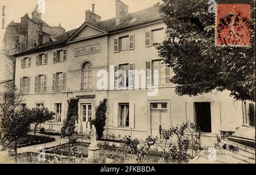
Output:
<path fill-rule="evenodd" d="M 96 127 L 98 139 L 103 136 L 104 127 L 106 124 L 106 110 L 107 110 L 107 99 L 103 99 L 96 108 L 95 119 L 92 120 L 91 124 Z"/>

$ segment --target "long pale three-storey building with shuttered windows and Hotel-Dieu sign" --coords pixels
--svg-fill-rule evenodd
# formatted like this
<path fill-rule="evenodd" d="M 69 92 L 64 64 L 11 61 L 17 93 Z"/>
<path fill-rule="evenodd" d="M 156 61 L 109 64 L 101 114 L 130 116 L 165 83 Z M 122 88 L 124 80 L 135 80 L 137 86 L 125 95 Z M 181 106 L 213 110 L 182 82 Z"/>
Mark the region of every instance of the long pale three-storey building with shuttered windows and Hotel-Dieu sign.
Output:
<path fill-rule="evenodd" d="M 116 1 L 115 17 L 101 21 L 94 14 L 93 5 L 92 11 L 85 12 L 81 27 L 16 54 L 15 84 L 25 94 L 23 107 L 44 106 L 55 111 L 53 130 L 60 132 L 68 99 L 79 98 L 81 122 L 76 130 L 85 134 L 90 130 L 96 106 L 106 98 L 104 136 L 114 139 L 125 135 L 139 139 L 159 136 L 159 126 L 168 129 L 188 120 L 199 124 L 204 136 L 216 138 L 221 128 L 234 131 L 250 120 L 249 111 L 242 102 L 229 97 L 228 91 L 197 97 L 175 94 L 175 85 L 170 83 L 173 73 L 162 64 L 153 46 L 167 39 L 158 7 L 129 14 L 128 6 Z M 110 66 L 114 66 L 113 76 Z M 109 82 L 116 82 L 118 70 L 125 70 L 126 76 L 119 85 L 127 88 L 98 90 L 99 70 L 114 78 Z M 148 96 L 148 90 L 133 89 L 137 81 L 134 70 L 146 70 L 147 86 L 155 80 L 150 70 L 159 71 L 157 95 Z M 41 127 L 48 129 L 49 123 Z"/>

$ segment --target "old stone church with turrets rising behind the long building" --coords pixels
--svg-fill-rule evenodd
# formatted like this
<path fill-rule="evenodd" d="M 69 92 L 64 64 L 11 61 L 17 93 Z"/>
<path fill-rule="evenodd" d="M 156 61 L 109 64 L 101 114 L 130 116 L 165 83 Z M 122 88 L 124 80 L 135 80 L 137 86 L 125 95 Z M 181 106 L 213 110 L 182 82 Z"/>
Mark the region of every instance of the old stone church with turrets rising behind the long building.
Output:
<path fill-rule="evenodd" d="M 20 19 L 20 23 L 12 21 L 6 28 L 1 48 L 0 92 L 5 90 L 5 82 L 14 80 L 15 61 L 12 55 L 37 48 L 50 39 L 65 33 L 61 25 L 49 26 L 41 19 L 38 5 L 32 11 L 32 18 L 28 14 Z"/>

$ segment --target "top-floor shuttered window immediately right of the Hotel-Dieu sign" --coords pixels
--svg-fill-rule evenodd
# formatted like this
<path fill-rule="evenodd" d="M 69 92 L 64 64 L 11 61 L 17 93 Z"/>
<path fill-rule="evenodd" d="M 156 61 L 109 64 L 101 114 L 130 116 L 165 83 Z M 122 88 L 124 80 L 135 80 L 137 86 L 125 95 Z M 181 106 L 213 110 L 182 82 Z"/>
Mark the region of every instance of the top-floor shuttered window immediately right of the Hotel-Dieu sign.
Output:
<path fill-rule="evenodd" d="M 114 39 L 114 52 L 133 50 L 135 47 L 135 35 L 127 35 Z"/>

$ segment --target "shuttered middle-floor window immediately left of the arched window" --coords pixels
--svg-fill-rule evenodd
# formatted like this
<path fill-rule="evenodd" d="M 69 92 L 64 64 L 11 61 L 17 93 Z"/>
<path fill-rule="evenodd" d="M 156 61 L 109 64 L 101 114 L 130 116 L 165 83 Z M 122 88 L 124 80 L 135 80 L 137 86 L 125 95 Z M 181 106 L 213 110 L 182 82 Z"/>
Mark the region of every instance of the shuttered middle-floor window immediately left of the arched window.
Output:
<path fill-rule="evenodd" d="M 65 91 L 66 90 L 66 73 L 53 74 L 52 91 Z"/>

